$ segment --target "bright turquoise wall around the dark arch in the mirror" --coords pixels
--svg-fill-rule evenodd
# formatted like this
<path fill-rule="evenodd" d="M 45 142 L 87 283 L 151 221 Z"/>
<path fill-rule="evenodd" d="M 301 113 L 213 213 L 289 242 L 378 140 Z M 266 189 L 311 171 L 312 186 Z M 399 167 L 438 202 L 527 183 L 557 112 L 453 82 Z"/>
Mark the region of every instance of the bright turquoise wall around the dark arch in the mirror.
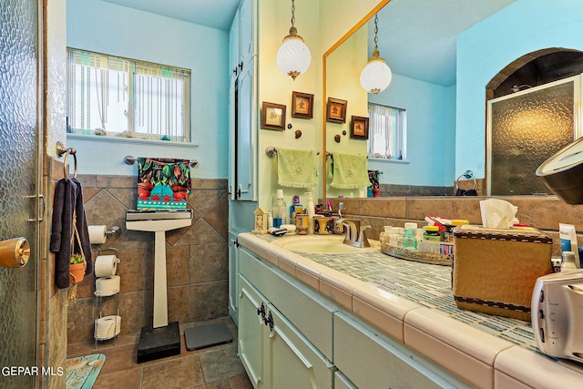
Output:
<path fill-rule="evenodd" d="M 580 15 L 578 0 L 517 0 L 457 36 L 456 174 L 470 169 L 485 176 L 486 85 L 528 53 L 549 47 L 583 50 Z"/>

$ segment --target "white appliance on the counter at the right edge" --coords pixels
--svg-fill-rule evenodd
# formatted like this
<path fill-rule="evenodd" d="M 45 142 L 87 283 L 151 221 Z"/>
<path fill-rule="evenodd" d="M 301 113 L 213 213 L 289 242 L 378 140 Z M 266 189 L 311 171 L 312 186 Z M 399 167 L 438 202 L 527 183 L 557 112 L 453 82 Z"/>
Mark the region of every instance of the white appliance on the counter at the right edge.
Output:
<path fill-rule="evenodd" d="M 531 322 L 542 353 L 583 362 L 583 269 L 537 279 Z"/>

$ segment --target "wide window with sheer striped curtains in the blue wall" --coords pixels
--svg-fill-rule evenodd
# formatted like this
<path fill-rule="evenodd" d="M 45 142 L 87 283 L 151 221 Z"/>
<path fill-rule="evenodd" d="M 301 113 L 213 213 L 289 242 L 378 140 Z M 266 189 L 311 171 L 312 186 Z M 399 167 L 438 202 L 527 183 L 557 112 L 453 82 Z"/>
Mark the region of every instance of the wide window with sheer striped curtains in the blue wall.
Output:
<path fill-rule="evenodd" d="M 67 48 L 67 132 L 190 141 L 190 70 Z"/>

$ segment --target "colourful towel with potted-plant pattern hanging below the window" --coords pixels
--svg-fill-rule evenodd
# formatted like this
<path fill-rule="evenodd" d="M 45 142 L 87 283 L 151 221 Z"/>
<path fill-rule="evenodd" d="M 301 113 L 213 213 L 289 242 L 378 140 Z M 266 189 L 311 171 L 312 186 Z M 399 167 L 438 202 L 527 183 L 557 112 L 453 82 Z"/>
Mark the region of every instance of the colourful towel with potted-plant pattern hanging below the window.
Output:
<path fill-rule="evenodd" d="M 189 193 L 188 159 L 138 158 L 137 210 L 184 210 Z"/>

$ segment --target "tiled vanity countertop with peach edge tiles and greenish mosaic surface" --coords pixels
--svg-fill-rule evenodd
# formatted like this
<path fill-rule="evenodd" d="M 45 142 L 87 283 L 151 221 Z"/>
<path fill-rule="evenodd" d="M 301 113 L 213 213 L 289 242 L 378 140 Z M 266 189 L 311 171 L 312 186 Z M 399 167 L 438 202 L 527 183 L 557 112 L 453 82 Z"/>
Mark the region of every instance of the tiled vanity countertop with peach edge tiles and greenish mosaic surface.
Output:
<path fill-rule="evenodd" d="M 241 233 L 238 241 L 476 387 L 583 387 L 583 364 L 540 353 L 530 322 L 457 308 L 450 267 L 380 250 L 314 254 L 278 245 L 291 239 L 304 237 Z"/>

